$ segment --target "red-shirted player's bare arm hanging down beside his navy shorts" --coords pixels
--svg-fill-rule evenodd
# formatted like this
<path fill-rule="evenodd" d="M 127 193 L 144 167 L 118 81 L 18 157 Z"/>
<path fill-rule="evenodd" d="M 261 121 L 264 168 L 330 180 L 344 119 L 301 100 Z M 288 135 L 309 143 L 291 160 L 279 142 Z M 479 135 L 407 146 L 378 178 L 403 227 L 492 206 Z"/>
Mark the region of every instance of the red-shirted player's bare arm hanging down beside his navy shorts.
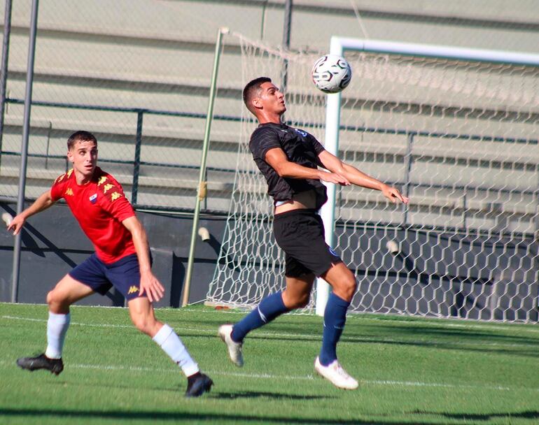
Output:
<path fill-rule="evenodd" d="M 144 226 L 137 217 L 132 216 L 123 220 L 122 224 L 131 232 L 135 250 L 137 250 L 137 258 L 139 259 L 139 268 L 141 271 L 141 283 L 139 295 L 145 294 L 151 302 L 159 301 L 165 288 L 152 273 L 150 262 L 150 247 L 148 246 L 148 237 Z"/>

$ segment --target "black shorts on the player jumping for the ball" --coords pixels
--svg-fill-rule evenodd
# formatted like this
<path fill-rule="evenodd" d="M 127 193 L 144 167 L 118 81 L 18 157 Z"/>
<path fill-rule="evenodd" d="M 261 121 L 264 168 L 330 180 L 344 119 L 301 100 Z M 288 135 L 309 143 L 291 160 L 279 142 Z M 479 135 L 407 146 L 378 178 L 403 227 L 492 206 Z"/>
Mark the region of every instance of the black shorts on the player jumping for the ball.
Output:
<path fill-rule="evenodd" d="M 274 217 L 275 240 L 285 252 L 285 275 L 299 278 L 323 275 L 332 264 L 342 262 L 324 239 L 322 217 L 315 210 L 291 210 Z"/>

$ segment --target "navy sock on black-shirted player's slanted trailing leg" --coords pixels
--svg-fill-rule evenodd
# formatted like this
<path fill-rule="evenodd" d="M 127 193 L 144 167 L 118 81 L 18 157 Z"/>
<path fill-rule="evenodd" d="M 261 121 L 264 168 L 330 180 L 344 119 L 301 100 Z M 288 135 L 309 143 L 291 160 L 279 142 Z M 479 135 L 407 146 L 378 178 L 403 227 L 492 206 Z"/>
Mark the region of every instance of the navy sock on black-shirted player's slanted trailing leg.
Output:
<path fill-rule="evenodd" d="M 264 298 L 257 308 L 234 325 L 230 337 L 233 341 L 240 343 L 248 332 L 260 328 L 287 311 L 288 308 L 283 303 L 281 291 L 271 294 Z"/>

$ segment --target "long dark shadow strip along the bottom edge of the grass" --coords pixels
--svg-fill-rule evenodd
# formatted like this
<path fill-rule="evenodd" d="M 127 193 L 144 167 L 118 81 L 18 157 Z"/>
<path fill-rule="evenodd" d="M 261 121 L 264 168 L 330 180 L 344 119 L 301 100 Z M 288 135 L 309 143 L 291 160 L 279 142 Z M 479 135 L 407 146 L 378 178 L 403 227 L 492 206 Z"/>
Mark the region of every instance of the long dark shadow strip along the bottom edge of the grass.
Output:
<path fill-rule="evenodd" d="M 424 414 L 424 412 L 422 412 Z M 436 414 L 437 415 L 437 414 Z M 369 419 L 328 419 L 320 417 L 286 417 L 286 416 L 268 416 L 268 415 L 226 415 L 224 413 L 192 413 L 192 412 L 160 412 L 155 410 L 130 410 L 130 411 L 94 411 L 94 410 L 73 410 L 73 409 L 38 409 L 38 408 L 0 408 L 1 417 L 20 417 L 26 418 L 28 421 L 32 419 L 53 419 L 53 418 L 71 418 L 75 420 L 90 420 L 90 419 L 112 419 L 116 423 L 120 421 L 132 422 L 140 420 L 151 421 L 207 421 L 216 424 L 238 424 L 260 422 L 275 424 L 305 424 L 305 425 L 397 425 L 402 424 L 401 421 L 393 420 L 372 421 Z M 423 425 L 442 425 L 444 422 L 421 422 Z"/>

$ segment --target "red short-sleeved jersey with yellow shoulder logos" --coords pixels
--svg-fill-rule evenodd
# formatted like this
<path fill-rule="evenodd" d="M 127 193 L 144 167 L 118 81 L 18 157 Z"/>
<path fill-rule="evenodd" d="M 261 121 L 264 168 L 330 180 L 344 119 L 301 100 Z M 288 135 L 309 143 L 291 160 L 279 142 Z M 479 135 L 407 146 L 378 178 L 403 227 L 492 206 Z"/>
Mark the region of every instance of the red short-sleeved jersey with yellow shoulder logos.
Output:
<path fill-rule="evenodd" d="M 131 232 L 122 224 L 135 215 L 133 207 L 120 183 L 109 173 L 96 167 L 92 180 L 78 185 L 71 168 L 52 184 L 50 196 L 53 201 L 65 199 L 104 263 L 111 264 L 137 252 Z"/>

